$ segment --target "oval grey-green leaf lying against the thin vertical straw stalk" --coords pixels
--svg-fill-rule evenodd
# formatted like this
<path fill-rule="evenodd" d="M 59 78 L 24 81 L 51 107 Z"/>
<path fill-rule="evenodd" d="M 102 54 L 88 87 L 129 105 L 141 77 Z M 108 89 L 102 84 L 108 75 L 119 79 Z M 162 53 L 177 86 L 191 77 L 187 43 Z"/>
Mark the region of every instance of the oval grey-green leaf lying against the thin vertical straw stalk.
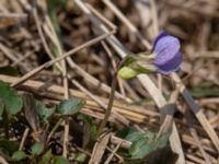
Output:
<path fill-rule="evenodd" d="M 57 112 L 62 115 L 73 115 L 78 113 L 84 105 L 85 102 L 79 98 L 66 99 L 58 105 Z"/>

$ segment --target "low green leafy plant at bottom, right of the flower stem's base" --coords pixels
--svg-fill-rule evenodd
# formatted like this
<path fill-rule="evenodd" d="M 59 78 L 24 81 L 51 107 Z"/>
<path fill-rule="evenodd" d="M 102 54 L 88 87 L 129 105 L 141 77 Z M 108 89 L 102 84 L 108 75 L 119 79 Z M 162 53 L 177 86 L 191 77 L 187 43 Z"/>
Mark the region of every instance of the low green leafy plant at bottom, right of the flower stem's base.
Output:
<path fill-rule="evenodd" d="M 155 164 L 164 162 L 171 164 L 177 159 L 177 155 L 170 149 L 169 134 L 163 134 L 157 139 L 157 132 L 140 132 L 134 127 L 128 127 L 118 131 L 116 136 L 131 142 L 128 151 L 120 151 L 126 156 L 126 163 L 152 162 Z M 169 154 L 169 156 L 162 154 Z"/>

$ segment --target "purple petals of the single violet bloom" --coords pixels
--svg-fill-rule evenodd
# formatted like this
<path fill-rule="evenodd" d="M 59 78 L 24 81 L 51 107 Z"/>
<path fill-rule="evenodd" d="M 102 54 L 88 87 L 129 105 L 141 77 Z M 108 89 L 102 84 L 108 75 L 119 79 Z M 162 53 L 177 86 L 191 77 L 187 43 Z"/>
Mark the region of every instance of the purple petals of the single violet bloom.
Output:
<path fill-rule="evenodd" d="M 153 65 L 159 73 L 169 74 L 180 69 L 182 62 L 180 48 L 180 40 L 166 32 L 162 32 L 155 38 L 152 48 L 152 52 L 155 55 Z"/>

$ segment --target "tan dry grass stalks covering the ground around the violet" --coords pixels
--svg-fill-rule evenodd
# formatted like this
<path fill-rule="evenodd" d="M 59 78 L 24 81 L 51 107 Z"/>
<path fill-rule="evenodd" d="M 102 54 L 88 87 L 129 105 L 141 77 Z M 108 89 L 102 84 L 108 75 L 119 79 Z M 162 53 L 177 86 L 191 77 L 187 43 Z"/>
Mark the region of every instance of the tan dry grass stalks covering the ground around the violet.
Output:
<path fill-rule="evenodd" d="M 0 75 L 1 81 L 50 104 L 71 96 L 84 98 L 81 113 L 99 122 L 107 108 L 117 62 L 128 54 L 150 50 L 152 39 L 164 28 L 182 42 L 181 71 L 170 77 L 117 79 L 110 121 L 118 129 L 134 125 L 142 131 L 171 131 L 170 143 L 180 155 L 178 164 L 219 162 L 216 0 L 68 0 L 66 7 L 56 7 L 60 36 L 47 5 L 45 1 L 34 5 L 27 0 L 1 0 L 0 66 L 13 66 L 20 72 L 16 78 Z M 57 58 L 53 56 L 54 46 Z M 139 101 L 140 105 L 130 105 Z M 64 125 L 62 156 L 68 156 L 69 119 Z M 129 145 L 113 132 L 106 133 L 91 150 L 90 163 L 99 163 L 106 150 L 111 155 L 105 163 L 113 156 L 123 161 L 116 151 Z M 101 156 L 94 157 L 96 153 Z"/>

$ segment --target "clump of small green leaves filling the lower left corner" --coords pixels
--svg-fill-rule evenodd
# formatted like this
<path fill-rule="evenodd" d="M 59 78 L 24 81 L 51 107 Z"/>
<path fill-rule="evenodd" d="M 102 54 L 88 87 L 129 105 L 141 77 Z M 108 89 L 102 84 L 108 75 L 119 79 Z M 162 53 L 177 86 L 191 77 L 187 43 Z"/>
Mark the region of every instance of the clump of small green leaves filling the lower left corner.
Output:
<path fill-rule="evenodd" d="M 4 82 L 0 82 L 0 116 L 4 122 L 5 137 L 0 139 L 0 153 L 9 162 L 30 162 L 41 164 L 68 164 L 68 160 L 53 153 L 50 139 L 65 118 L 76 115 L 85 105 L 80 98 L 61 101 L 58 105 L 47 107 L 30 93 L 23 93 L 23 98 L 16 90 Z M 48 126 L 51 126 L 54 116 L 58 116 L 59 121 L 49 133 Z M 9 134 L 11 122 L 18 124 L 24 119 L 31 127 L 32 136 L 27 138 L 30 148 L 19 149 L 19 141 L 12 141 Z M 84 119 L 88 120 L 89 119 Z M 21 125 L 19 125 L 21 126 Z M 27 125 L 26 125 L 27 126 Z M 45 136 L 46 134 L 46 136 Z M 83 155 L 79 155 L 79 161 Z"/>

